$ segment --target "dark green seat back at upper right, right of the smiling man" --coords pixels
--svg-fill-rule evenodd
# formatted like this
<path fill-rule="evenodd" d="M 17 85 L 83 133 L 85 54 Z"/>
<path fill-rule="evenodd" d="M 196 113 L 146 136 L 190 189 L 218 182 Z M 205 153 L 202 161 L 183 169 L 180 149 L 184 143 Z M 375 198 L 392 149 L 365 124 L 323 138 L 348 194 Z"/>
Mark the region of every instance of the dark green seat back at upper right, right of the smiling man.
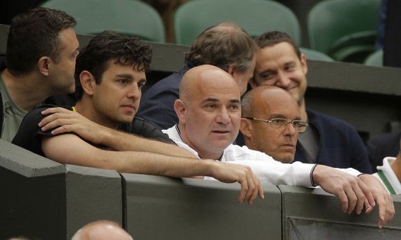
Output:
<path fill-rule="evenodd" d="M 374 51 L 380 0 L 326 0 L 313 6 L 307 30 L 311 49 L 337 61 L 360 61 Z"/>

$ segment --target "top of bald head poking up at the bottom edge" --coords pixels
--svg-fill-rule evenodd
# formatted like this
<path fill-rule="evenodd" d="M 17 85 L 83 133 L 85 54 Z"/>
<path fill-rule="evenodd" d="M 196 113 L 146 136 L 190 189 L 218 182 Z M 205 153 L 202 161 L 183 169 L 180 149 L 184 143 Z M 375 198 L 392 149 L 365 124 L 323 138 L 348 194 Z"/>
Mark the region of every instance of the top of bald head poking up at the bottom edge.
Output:
<path fill-rule="evenodd" d="M 112 221 L 95 221 L 83 226 L 71 240 L 133 240 L 119 224 Z"/>

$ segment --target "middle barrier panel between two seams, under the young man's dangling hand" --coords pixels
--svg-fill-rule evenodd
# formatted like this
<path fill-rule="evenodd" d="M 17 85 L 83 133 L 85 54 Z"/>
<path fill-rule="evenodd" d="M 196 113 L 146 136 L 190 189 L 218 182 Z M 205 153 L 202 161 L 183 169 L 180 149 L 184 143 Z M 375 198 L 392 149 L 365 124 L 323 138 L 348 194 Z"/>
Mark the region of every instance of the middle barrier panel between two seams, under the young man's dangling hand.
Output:
<path fill-rule="evenodd" d="M 134 239 L 281 239 L 281 195 L 238 203 L 239 184 L 123 174 Z"/>

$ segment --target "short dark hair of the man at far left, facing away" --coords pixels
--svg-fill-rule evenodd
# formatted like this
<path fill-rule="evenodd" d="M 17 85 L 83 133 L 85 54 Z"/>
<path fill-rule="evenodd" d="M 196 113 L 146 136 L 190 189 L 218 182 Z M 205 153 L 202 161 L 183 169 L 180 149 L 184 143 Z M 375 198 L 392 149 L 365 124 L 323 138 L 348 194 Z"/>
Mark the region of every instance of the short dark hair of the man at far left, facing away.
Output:
<path fill-rule="evenodd" d="M 17 15 L 8 33 L 6 67 L 12 74 L 28 74 L 42 56 L 57 63 L 63 48 L 59 32 L 75 25 L 73 17 L 50 8 L 32 8 Z"/>

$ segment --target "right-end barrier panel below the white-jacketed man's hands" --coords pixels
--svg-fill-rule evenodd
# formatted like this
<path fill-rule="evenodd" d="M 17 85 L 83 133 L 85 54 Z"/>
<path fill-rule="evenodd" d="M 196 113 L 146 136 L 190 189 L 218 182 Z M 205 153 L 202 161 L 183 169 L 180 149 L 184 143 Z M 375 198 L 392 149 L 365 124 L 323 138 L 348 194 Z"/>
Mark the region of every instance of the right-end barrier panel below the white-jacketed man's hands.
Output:
<path fill-rule="evenodd" d="M 369 215 L 348 215 L 342 213 L 338 198 L 322 189 L 278 188 L 282 192 L 283 239 L 400 239 L 401 196 L 392 196 L 398 213 L 379 229 L 377 207 Z"/>

